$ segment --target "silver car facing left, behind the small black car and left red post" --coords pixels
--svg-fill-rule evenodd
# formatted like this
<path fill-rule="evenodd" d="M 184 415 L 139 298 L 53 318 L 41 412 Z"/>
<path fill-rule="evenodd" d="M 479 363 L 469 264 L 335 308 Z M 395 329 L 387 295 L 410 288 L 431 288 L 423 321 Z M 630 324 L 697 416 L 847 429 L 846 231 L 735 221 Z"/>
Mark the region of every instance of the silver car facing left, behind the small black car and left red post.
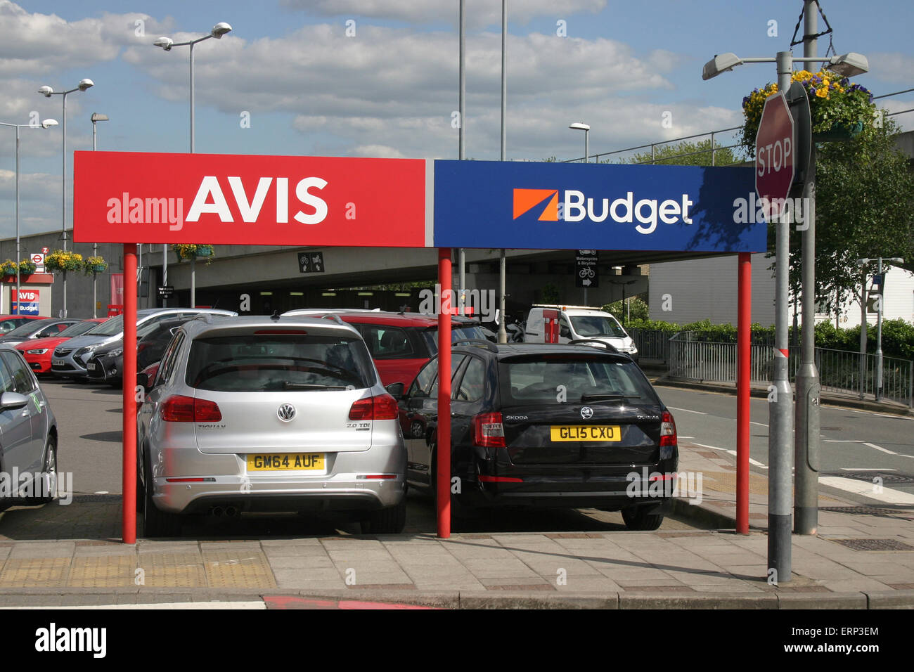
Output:
<path fill-rule="evenodd" d="M 209 313 L 210 315 L 238 315 L 217 308 L 146 308 L 136 311 L 136 326 Z M 85 378 L 86 364 L 96 348 L 107 346 L 123 338 L 123 315 L 117 315 L 93 327 L 82 336 L 75 336 L 54 348 L 51 356 L 51 373 L 64 378 Z"/>

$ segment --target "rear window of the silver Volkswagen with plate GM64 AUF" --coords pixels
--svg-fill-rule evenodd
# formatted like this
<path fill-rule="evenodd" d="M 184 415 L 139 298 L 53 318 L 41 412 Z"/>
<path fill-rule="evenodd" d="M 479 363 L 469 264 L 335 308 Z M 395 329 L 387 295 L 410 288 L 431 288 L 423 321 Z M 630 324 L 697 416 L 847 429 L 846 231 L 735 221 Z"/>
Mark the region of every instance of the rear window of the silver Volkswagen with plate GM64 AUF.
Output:
<path fill-rule="evenodd" d="M 186 372 L 190 387 L 232 392 L 365 389 L 375 379 L 360 338 L 307 334 L 197 338 Z"/>

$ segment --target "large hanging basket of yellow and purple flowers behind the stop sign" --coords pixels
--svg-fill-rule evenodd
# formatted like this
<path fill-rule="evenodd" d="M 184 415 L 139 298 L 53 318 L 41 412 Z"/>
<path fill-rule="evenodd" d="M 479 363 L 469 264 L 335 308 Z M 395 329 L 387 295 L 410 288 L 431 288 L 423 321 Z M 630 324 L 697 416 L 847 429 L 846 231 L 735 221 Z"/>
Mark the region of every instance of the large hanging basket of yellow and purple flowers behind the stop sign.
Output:
<path fill-rule="evenodd" d="M 851 84 L 834 72 L 797 70 L 793 81 L 799 81 L 809 98 L 813 122 L 813 141 L 817 143 L 846 141 L 873 128 L 876 105 L 873 94 L 859 84 Z M 777 84 L 768 84 L 743 98 L 743 124 L 739 143 L 749 155 L 755 154 L 755 136 L 759 132 L 765 101 L 778 92 Z"/>

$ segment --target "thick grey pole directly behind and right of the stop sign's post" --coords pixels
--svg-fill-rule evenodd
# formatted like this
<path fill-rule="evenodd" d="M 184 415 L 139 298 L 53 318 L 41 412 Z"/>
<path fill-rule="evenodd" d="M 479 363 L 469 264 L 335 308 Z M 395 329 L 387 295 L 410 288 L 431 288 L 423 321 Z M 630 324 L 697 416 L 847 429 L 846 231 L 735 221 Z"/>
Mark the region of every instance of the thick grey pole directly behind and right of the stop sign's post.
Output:
<path fill-rule="evenodd" d="M 816 56 L 817 3 L 803 3 L 803 57 Z M 806 229 L 802 232 L 802 357 L 796 376 L 793 530 L 815 534 L 819 527 L 819 371 L 815 368 L 815 143 L 803 184 Z M 786 259 L 785 259 L 786 261 Z"/>

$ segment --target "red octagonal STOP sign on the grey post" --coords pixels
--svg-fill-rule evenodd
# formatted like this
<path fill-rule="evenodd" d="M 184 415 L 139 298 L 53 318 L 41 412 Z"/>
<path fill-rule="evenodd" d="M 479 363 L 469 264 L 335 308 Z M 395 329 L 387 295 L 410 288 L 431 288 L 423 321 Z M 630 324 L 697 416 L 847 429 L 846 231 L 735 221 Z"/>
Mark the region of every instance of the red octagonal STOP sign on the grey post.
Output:
<path fill-rule="evenodd" d="M 782 92 L 769 96 L 755 136 L 755 190 L 765 199 L 765 217 L 777 217 L 793 183 L 793 118 Z"/>

